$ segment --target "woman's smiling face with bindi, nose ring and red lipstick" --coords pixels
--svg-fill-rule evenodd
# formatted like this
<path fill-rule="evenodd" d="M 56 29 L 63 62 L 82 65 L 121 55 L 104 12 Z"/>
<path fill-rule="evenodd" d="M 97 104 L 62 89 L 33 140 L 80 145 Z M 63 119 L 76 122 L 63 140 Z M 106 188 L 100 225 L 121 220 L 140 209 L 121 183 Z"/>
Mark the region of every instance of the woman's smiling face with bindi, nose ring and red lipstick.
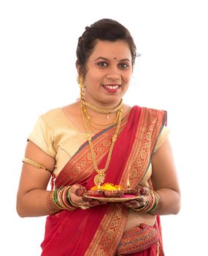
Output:
<path fill-rule="evenodd" d="M 84 99 L 97 106 L 118 105 L 128 89 L 131 75 L 128 45 L 120 40 L 98 40 L 87 62 Z"/>

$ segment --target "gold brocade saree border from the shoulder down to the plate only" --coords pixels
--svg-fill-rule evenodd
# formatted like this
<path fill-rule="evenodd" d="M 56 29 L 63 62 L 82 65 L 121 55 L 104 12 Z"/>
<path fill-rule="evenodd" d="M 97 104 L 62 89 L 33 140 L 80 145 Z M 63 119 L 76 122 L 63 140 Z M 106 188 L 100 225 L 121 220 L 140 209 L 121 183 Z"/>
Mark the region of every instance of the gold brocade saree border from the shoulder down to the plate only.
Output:
<path fill-rule="evenodd" d="M 132 188 L 138 187 L 148 170 L 158 136 L 166 124 L 166 111 L 142 108 L 136 138 L 131 148 L 120 184 L 129 181 Z"/>

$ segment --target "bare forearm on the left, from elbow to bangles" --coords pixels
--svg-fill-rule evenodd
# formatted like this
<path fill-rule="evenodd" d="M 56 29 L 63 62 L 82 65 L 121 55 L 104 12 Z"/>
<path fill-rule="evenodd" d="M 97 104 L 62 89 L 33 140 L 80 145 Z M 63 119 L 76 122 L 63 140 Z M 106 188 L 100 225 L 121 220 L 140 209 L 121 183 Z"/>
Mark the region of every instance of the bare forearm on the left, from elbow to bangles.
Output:
<path fill-rule="evenodd" d="M 53 192 L 45 189 L 33 189 L 24 195 L 18 195 L 17 211 L 20 217 L 40 217 L 60 211 L 53 202 Z"/>

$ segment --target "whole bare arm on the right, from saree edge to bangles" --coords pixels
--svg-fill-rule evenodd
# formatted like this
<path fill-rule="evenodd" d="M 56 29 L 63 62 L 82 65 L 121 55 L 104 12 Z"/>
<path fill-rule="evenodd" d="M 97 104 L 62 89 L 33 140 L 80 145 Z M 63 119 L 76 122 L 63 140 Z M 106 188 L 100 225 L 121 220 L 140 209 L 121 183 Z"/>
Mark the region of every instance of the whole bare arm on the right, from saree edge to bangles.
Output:
<path fill-rule="evenodd" d="M 180 188 L 172 148 L 167 139 L 153 155 L 153 188 L 159 195 L 159 204 L 152 214 L 177 214 L 180 211 Z"/>

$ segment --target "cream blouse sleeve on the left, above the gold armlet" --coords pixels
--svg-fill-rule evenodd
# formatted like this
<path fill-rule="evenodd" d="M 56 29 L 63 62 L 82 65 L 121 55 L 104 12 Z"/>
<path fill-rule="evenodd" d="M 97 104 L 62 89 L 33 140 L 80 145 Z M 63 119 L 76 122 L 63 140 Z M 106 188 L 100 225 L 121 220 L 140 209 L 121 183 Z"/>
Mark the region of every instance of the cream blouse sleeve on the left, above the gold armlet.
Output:
<path fill-rule="evenodd" d="M 40 116 L 36 121 L 34 129 L 28 136 L 28 140 L 31 140 L 50 157 L 55 158 L 56 151 L 54 148 L 53 131 L 47 126 L 47 123 L 42 116 Z"/>

